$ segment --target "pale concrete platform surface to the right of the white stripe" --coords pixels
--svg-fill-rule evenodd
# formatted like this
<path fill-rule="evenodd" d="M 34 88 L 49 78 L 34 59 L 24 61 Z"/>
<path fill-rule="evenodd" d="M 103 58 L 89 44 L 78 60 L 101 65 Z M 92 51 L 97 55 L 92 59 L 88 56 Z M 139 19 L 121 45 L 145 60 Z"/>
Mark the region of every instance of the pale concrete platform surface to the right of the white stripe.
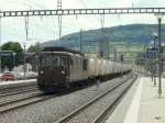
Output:
<path fill-rule="evenodd" d="M 162 79 L 162 97 L 158 97 L 158 80 L 156 87 L 151 78 L 143 78 L 143 90 L 139 123 L 165 123 L 165 79 Z"/>

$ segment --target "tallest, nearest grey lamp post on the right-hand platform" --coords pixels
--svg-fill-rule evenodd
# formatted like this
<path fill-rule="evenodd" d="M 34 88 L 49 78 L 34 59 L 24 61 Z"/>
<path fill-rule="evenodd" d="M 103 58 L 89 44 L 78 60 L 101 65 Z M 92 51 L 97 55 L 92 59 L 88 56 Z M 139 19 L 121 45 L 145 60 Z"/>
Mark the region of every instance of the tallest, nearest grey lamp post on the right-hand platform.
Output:
<path fill-rule="evenodd" d="M 158 96 L 161 97 L 162 94 L 162 79 L 161 79 L 161 75 L 162 75 L 162 44 L 161 44 L 161 24 L 162 24 L 162 18 L 163 18 L 163 13 L 157 13 L 155 14 L 157 16 L 158 20 Z"/>

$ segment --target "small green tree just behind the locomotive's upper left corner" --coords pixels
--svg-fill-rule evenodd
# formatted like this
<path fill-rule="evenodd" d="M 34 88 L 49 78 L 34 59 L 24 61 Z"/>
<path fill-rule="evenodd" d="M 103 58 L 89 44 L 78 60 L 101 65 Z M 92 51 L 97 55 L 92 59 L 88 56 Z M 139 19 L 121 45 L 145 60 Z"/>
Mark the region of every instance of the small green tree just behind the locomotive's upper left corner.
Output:
<path fill-rule="evenodd" d="M 28 49 L 29 53 L 38 53 L 42 51 L 41 44 L 36 43 L 35 45 L 31 45 Z"/>

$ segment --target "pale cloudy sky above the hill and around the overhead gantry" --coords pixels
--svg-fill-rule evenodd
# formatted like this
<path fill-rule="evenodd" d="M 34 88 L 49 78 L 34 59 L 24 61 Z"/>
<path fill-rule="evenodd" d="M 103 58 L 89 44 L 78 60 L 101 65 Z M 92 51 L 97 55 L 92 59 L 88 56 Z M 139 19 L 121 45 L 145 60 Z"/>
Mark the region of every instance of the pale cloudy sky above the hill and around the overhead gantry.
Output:
<path fill-rule="evenodd" d="M 63 0 L 63 9 L 78 8 L 131 8 L 165 7 L 165 0 Z M 57 0 L 0 0 L 0 10 L 57 9 Z M 29 45 L 58 38 L 57 16 L 33 16 L 29 24 Z M 132 23 L 157 23 L 153 14 L 106 15 L 105 26 L 125 25 Z M 66 35 L 82 30 L 100 29 L 100 15 L 63 16 L 62 34 Z M 1 42 L 25 42 L 24 18 L 1 19 Z"/>

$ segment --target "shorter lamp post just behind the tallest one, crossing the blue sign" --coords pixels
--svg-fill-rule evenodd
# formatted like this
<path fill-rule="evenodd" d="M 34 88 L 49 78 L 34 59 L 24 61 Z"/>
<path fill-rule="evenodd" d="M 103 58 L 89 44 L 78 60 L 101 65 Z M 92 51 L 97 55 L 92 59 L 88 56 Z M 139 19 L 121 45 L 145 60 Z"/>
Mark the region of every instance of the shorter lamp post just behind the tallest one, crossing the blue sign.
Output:
<path fill-rule="evenodd" d="M 156 40 L 158 37 L 156 32 L 153 32 L 153 37 L 154 37 L 154 48 L 156 49 Z M 154 58 L 154 86 L 156 86 L 156 54 Z"/>

